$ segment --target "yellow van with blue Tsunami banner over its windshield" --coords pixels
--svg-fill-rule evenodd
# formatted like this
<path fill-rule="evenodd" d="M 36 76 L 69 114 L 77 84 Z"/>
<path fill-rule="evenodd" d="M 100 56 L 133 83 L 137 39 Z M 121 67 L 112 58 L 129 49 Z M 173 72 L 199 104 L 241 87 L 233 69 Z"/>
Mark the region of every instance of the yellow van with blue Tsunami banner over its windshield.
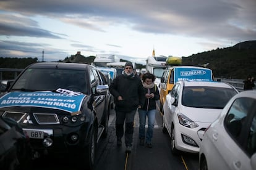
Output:
<path fill-rule="evenodd" d="M 166 95 L 173 89 L 174 83 L 181 80 L 213 81 L 213 73 L 210 68 L 195 66 L 173 66 L 163 71 L 160 80 L 160 110 L 166 100 Z"/>

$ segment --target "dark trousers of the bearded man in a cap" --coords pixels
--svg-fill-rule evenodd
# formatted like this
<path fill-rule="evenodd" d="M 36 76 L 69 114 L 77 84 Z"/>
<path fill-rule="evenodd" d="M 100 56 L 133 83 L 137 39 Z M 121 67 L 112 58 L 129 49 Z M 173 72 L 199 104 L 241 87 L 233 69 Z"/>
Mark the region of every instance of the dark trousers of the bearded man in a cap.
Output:
<path fill-rule="evenodd" d="M 126 146 L 132 146 L 132 139 L 134 134 L 134 116 L 137 109 L 130 112 L 123 112 L 116 110 L 116 137 L 121 139 L 125 136 Z M 126 121 L 126 132 L 124 135 L 124 121 Z"/>

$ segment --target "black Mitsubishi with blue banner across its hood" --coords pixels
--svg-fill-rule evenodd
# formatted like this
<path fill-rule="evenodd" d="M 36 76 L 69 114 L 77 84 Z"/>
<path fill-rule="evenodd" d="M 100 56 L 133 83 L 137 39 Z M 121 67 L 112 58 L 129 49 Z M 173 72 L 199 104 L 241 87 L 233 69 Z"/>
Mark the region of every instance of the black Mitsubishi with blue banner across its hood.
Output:
<path fill-rule="evenodd" d="M 19 123 L 33 155 L 67 153 L 92 169 L 96 144 L 108 134 L 108 84 L 103 79 L 92 65 L 32 64 L 1 94 L 0 114 Z"/>

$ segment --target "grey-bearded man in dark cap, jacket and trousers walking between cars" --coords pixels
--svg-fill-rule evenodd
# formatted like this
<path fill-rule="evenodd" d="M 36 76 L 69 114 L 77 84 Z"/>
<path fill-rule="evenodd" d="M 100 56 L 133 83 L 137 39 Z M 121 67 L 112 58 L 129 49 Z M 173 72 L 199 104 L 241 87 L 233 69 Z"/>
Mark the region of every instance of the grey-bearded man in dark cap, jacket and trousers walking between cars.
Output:
<path fill-rule="evenodd" d="M 117 146 L 122 145 L 122 136 L 125 136 L 126 152 L 132 151 L 134 133 L 134 116 L 137 108 L 141 108 L 145 102 L 145 92 L 139 76 L 134 75 L 134 67 L 131 62 L 126 62 L 122 75 L 116 77 L 109 86 L 116 102 L 116 137 Z M 124 135 L 124 121 L 126 132 Z"/>

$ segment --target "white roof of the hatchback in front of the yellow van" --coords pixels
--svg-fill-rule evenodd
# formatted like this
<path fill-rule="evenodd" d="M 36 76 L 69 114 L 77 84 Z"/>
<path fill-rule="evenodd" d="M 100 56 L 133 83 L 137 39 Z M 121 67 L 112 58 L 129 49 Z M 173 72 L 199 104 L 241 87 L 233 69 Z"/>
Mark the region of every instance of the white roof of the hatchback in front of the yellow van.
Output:
<path fill-rule="evenodd" d="M 210 86 L 210 87 L 223 87 L 233 89 L 234 87 L 228 83 L 224 83 L 221 81 L 178 81 L 183 82 L 184 86 Z"/>

